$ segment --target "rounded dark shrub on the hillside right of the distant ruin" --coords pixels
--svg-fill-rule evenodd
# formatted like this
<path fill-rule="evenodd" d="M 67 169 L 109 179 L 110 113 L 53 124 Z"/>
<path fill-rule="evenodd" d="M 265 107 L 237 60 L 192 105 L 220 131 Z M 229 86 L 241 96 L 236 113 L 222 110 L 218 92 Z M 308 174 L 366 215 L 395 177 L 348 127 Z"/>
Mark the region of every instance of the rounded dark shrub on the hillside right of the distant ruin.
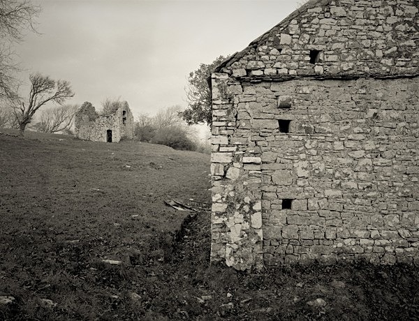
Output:
<path fill-rule="evenodd" d="M 156 131 L 156 135 L 150 141 L 153 144 L 162 144 L 174 149 L 194 151 L 196 144 L 189 139 L 186 130 L 179 127 L 166 127 Z"/>

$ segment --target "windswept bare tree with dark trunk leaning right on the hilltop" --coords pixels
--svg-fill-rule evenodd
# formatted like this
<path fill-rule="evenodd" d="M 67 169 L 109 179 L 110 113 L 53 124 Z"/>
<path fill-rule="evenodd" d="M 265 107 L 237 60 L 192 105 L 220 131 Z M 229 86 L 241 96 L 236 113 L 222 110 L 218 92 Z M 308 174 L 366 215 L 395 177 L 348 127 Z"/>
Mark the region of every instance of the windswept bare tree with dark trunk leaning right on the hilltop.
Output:
<path fill-rule="evenodd" d="M 21 136 L 39 108 L 46 103 L 62 105 L 66 99 L 74 96 L 70 83 L 66 80 L 57 80 L 56 82 L 40 73 L 30 75 L 29 80 L 31 80 L 29 103 L 27 105 L 20 103 L 13 107 Z"/>

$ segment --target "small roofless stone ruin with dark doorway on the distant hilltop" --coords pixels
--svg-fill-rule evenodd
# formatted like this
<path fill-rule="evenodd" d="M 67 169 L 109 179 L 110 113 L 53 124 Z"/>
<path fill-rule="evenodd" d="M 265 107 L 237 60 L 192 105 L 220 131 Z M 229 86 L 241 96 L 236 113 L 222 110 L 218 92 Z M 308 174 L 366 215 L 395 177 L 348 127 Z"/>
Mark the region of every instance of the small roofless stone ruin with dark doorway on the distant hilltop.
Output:
<path fill-rule="evenodd" d="M 119 142 L 123 137 L 134 137 L 134 118 L 126 101 L 114 103 L 101 115 L 85 102 L 75 114 L 74 126 L 75 136 L 81 140 Z"/>

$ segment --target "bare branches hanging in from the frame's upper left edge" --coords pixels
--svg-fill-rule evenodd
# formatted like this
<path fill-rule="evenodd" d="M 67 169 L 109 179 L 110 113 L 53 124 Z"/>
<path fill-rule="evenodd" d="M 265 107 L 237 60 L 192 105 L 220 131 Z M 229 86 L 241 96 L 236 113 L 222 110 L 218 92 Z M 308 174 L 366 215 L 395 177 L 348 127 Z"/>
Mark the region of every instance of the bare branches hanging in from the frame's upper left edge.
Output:
<path fill-rule="evenodd" d="M 22 40 L 23 31 L 34 29 L 34 18 L 41 7 L 29 0 L 0 0 L 0 99 L 17 99 L 18 82 L 14 76 L 19 70 L 15 64 L 13 43 Z"/>

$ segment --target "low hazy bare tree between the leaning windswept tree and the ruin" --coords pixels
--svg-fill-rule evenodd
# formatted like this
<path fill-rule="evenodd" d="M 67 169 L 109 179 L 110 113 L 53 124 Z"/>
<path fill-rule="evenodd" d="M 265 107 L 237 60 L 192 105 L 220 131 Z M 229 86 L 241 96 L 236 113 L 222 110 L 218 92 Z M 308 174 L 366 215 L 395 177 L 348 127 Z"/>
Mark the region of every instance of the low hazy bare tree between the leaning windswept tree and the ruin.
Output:
<path fill-rule="evenodd" d="M 67 131 L 73 126 L 75 112 L 78 105 L 62 105 L 50 107 L 42 111 L 41 119 L 34 128 L 43 133 L 57 133 Z"/>

